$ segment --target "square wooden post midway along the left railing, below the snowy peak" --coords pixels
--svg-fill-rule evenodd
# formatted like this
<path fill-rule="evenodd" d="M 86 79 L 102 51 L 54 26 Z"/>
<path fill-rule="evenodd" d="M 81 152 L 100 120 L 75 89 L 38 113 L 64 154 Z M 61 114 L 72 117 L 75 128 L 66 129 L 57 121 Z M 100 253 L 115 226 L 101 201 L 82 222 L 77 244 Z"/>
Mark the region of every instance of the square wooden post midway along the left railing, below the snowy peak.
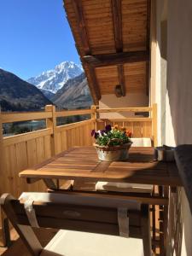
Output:
<path fill-rule="evenodd" d="M 55 155 L 55 152 L 56 152 L 56 140 L 55 140 L 56 117 L 55 117 L 55 106 L 54 105 L 46 105 L 45 106 L 45 111 L 52 113 L 52 117 L 50 119 L 46 119 L 46 126 L 47 126 L 47 128 L 52 128 L 53 129 L 53 134 L 51 135 L 51 154 Z"/>

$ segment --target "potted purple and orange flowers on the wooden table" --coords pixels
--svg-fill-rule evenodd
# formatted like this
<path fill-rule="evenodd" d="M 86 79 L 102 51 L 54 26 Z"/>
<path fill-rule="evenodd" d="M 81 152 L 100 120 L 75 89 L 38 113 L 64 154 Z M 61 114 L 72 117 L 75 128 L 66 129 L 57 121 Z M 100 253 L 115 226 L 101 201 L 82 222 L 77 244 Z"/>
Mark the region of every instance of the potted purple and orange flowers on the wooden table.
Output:
<path fill-rule="evenodd" d="M 100 160 L 114 161 L 126 160 L 131 147 L 131 131 L 125 127 L 119 129 L 118 125 L 106 125 L 105 130 L 91 131 L 91 136 L 95 137 L 96 152 Z"/>

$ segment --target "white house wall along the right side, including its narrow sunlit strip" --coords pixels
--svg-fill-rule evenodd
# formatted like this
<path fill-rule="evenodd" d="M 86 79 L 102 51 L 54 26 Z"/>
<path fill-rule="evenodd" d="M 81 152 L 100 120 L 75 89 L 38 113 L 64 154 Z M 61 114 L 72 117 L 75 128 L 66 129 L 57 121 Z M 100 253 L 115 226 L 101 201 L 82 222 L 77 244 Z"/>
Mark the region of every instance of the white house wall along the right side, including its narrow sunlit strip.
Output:
<path fill-rule="evenodd" d="M 192 143 L 192 1 L 169 0 L 167 11 L 167 83 L 164 101 L 160 88 L 163 85 L 163 65 L 160 45 L 160 14 L 162 4 L 157 0 L 157 49 L 156 49 L 156 96 L 159 109 L 159 129 L 165 132 L 165 143 L 178 145 Z M 162 63 L 161 63 L 162 64 Z M 165 81 L 164 81 L 165 82 Z M 155 86 L 155 84 L 152 84 Z M 161 91 L 162 92 L 162 91 Z M 166 99 L 166 101 L 165 101 Z M 165 106 L 163 106 L 163 104 Z M 165 108 L 162 108 L 165 107 Z M 162 129 L 162 110 L 165 110 L 166 131 Z M 192 183 L 192 181 L 191 181 Z M 192 255 L 192 215 L 183 189 L 171 195 L 170 219 L 168 230 L 169 250 L 167 255 Z M 173 218 L 174 215 L 174 218 Z"/>

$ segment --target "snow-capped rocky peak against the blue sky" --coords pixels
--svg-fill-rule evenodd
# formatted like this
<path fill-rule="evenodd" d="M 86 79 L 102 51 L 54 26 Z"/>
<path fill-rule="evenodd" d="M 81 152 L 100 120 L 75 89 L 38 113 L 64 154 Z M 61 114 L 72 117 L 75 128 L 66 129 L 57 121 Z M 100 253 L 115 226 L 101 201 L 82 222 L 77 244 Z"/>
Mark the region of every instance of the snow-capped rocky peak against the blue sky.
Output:
<path fill-rule="evenodd" d="M 79 76 L 83 72 L 83 68 L 79 64 L 75 64 L 73 61 L 64 61 L 57 65 L 54 69 L 45 71 L 38 75 L 28 79 L 27 82 L 34 84 L 41 90 L 48 90 L 52 93 L 56 93 L 61 87 L 66 84 L 68 79 L 73 79 Z"/>

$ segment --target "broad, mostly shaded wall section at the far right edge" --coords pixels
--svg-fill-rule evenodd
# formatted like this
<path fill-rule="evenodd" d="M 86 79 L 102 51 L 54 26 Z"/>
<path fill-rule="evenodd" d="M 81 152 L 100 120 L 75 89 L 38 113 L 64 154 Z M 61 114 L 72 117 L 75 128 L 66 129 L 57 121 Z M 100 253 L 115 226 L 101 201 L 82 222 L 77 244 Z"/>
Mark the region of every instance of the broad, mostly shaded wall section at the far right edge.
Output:
<path fill-rule="evenodd" d="M 168 1 L 167 143 L 192 143 L 192 1 Z M 172 136 L 174 135 L 174 137 Z M 192 181 L 191 181 L 192 183 Z M 192 215 L 181 192 L 181 255 L 192 255 Z"/>

